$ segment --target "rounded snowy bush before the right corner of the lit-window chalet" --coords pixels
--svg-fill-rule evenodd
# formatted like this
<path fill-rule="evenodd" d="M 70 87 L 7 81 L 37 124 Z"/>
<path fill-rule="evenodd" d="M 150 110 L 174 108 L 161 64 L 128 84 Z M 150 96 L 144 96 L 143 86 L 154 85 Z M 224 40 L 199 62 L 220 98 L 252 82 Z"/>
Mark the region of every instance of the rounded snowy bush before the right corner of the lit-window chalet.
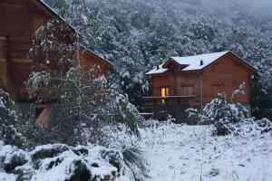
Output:
<path fill-rule="evenodd" d="M 202 110 L 202 114 L 193 109 L 188 109 L 187 112 L 190 117 L 198 118 L 199 124 L 212 124 L 213 135 L 216 136 L 247 132 L 262 134 L 272 130 L 270 120 L 249 118 L 248 110 L 240 103 L 228 103 L 224 93 L 219 93 L 216 99 L 211 100 Z"/>

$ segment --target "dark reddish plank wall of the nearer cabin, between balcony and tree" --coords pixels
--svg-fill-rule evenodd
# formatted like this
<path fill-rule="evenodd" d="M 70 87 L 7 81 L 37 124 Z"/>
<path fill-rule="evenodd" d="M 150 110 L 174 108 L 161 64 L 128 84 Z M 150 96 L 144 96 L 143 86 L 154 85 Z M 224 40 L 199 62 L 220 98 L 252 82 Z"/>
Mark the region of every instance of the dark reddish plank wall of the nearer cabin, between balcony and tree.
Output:
<path fill-rule="evenodd" d="M 0 1 L 0 32 L 7 34 L 8 38 L 6 66 L 12 81 L 8 90 L 16 95 L 15 99 L 27 99 L 23 89 L 24 81 L 27 80 L 33 65 L 27 54 L 35 29 L 48 18 L 49 16 L 30 0 Z"/>

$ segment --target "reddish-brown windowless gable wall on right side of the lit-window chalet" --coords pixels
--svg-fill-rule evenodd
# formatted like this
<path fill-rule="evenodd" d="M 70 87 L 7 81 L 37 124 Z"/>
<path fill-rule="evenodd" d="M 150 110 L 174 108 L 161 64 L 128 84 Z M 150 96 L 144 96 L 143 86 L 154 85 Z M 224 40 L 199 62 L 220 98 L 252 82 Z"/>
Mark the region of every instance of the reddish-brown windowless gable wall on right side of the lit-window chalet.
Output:
<path fill-rule="evenodd" d="M 242 104 L 250 104 L 250 75 L 251 71 L 238 57 L 227 54 L 217 62 L 212 63 L 203 71 L 203 103 L 217 97 L 219 92 L 225 92 L 228 102 L 231 101 L 232 92 L 243 81 L 246 83 L 245 95 L 238 98 Z"/>

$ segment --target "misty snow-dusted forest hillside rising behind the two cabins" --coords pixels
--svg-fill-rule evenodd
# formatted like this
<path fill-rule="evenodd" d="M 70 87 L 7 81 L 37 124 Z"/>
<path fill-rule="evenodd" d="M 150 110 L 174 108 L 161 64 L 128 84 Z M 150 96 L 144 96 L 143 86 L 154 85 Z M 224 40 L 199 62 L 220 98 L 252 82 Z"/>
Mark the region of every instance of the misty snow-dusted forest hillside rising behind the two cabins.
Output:
<path fill-rule="evenodd" d="M 149 93 L 145 72 L 170 56 L 230 50 L 254 65 L 253 115 L 269 113 L 272 95 L 272 14 L 240 1 L 46 0 L 115 65 L 112 79 L 135 105 Z M 258 9 L 259 8 L 259 9 Z M 259 10 L 262 11 L 259 11 Z"/>

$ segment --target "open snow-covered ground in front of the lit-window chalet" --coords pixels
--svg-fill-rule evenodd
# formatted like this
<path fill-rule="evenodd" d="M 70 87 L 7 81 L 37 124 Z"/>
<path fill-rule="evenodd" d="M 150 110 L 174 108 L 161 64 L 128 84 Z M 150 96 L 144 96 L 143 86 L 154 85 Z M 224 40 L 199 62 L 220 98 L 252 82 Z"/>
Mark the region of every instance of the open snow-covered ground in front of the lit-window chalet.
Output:
<path fill-rule="evenodd" d="M 212 137 L 209 126 L 141 129 L 154 181 L 272 180 L 271 134 Z"/>

